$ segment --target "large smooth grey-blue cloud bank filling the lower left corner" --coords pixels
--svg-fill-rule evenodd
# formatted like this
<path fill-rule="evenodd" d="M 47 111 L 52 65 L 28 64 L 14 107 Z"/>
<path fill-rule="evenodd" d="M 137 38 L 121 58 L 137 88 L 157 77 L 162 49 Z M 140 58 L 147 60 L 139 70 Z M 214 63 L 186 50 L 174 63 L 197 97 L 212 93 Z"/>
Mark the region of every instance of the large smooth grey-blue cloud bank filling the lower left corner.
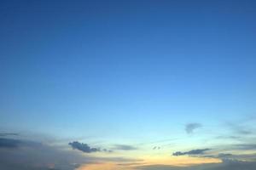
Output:
<path fill-rule="evenodd" d="M 70 170 L 94 160 L 32 140 L 0 139 L 0 144 L 0 169 L 4 170 Z"/>

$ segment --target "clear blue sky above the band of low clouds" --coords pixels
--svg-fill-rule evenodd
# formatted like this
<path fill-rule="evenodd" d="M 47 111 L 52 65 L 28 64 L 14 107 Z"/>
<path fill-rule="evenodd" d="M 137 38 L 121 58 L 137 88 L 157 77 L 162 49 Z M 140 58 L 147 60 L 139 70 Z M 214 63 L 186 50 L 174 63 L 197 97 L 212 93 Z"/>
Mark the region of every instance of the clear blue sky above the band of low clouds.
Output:
<path fill-rule="evenodd" d="M 187 122 L 253 114 L 255 8 L 1 1 L 0 127 L 119 138 L 139 128 L 165 139 Z"/>

